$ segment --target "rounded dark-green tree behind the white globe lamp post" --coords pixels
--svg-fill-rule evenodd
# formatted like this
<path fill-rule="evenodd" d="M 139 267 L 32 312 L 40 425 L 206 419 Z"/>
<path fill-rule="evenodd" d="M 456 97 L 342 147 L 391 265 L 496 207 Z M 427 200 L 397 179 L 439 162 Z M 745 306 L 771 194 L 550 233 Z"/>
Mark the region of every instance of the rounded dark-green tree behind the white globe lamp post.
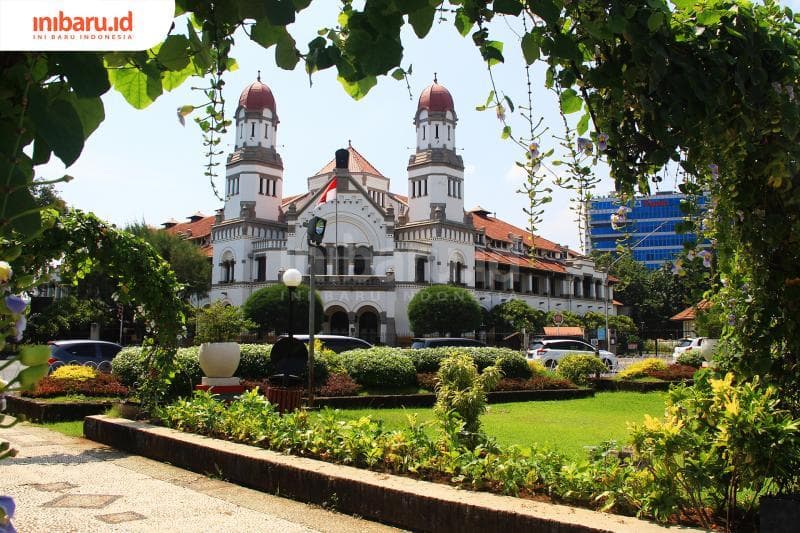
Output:
<path fill-rule="evenodd" d="M 300 285 L 294 291 L 292 305 L 292 330 L 294 333 L 308 331 L 308 286 Z M 259 289 L 242 306 L 244 316 L 258 326 L 261 333 L 289 331 L 289 289 L 279 283 Z M 323 309 L 319 294 L 314 306 L 315 332 L 322 327 Z"/>

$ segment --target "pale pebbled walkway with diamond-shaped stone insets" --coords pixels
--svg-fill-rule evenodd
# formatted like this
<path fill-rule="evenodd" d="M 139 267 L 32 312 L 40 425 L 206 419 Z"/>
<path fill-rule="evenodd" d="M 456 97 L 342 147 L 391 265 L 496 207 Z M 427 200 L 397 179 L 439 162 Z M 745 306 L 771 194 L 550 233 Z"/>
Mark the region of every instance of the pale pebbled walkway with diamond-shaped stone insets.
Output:
<path fill-rule="evenodd" d="M 0 438 L 19 450 L 0 462 L 0 494 L 21 533 L 397 531 L 36 426 Z"/>

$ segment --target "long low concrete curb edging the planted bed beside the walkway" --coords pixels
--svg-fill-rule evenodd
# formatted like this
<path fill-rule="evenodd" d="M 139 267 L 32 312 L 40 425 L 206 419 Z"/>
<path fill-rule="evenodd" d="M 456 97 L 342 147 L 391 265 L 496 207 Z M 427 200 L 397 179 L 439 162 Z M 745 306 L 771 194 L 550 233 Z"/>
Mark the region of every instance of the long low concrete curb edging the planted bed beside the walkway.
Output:
<path fill-rule="evenodd" d="M 87 417 L 84 434 L 94 441 L 195 472 L 415 531 L 666 530 L 635 518 L 459 490 L 127 419 Z"/>

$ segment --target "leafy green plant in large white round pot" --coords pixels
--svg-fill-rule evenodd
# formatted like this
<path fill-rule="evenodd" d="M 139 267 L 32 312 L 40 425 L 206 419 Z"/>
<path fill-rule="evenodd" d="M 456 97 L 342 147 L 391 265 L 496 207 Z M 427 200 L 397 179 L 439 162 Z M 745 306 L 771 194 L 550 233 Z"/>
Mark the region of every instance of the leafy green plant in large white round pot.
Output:
<path fill-rule="evenodd" d="M 239 337 L 255 327 L 238 307 L 221 301 L 197 312 L 200 368 L 209 378 L 230 378 L 239 366 Z"/>

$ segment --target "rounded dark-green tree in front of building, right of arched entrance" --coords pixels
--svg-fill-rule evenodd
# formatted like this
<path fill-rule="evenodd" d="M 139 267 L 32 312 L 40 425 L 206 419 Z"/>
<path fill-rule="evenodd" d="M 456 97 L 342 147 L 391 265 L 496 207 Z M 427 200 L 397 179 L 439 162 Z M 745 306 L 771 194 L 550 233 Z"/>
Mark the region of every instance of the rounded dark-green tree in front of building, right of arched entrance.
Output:
<path fill-rule="evenodd" d="M 459 337 L 465 331 L 478 329 L 481 306 L 466 289 L 432 285 L 411 298 L 408 320 L 415 335 L 439 333 Z"/>

